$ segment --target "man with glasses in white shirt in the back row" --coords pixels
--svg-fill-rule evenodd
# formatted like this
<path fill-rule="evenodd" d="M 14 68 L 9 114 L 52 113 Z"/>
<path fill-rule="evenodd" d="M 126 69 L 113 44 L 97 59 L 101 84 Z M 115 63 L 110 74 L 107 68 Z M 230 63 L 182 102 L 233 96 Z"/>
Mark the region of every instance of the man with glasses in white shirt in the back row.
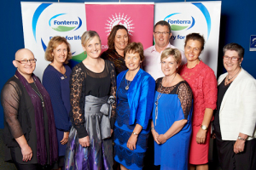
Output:
<path fill-rule="evenodd" d="M 145 59 L 143 60 L 144 71 L 147 71 L 154 80 L 159 77 L 165 77 L 161 71 L 160 56 L 162 51 L 166 48 L 176 48 L 169 42 L 172 37 L 171 26 L 165 20 L 160 20 L 154 25 L 154 42 L 155 45 L 144 50 Z M 179 50 L 182 54 L 181 65 L 187 62 L 183 51 Z"/>

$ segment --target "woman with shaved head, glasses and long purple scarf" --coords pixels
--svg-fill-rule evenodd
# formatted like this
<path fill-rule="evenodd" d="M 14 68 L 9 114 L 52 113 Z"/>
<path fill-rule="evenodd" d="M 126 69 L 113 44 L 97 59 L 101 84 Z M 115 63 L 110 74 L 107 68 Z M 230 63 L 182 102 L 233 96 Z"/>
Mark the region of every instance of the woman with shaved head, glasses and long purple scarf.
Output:
<path fill-rule="evenodd" d="M 28 49 L 15 54 L 15 76 L 1 93 L 5 161 L 17 169 L 51 169 L 58 159 L 55 119 L 49 94 L 33 74 L 37 59 Z"/>

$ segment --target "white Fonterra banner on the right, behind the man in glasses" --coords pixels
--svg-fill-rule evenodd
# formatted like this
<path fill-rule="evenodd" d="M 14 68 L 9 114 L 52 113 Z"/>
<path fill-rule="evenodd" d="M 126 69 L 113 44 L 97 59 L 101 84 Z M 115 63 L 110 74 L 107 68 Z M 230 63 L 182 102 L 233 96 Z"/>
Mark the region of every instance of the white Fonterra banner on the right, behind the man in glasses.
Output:
<path fill-rule="evenodd" d="M 184 49 L 186 35 L 192 32 L 204 36 L 206 43 L 200 58 L 217 75 L 218 37 L 221 2 L 155 3 L 154 24 L 166 20 L 172 27 L 171 44 Z"/>

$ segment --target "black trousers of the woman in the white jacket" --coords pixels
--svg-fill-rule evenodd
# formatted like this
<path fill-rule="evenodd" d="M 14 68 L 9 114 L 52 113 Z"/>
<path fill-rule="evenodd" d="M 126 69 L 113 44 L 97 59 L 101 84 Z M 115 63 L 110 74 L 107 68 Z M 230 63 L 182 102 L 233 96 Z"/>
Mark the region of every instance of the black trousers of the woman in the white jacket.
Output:
<path fill-rule="evenodd" d="M 218 150 L 218 161 L 224 170 L 252 170 L 256 169 L 256 139 L 245 142 L 244 151 L 236 154 L 234 152 L 233 140 L 222 140 L 216 133 L 216 144 Z"/>

